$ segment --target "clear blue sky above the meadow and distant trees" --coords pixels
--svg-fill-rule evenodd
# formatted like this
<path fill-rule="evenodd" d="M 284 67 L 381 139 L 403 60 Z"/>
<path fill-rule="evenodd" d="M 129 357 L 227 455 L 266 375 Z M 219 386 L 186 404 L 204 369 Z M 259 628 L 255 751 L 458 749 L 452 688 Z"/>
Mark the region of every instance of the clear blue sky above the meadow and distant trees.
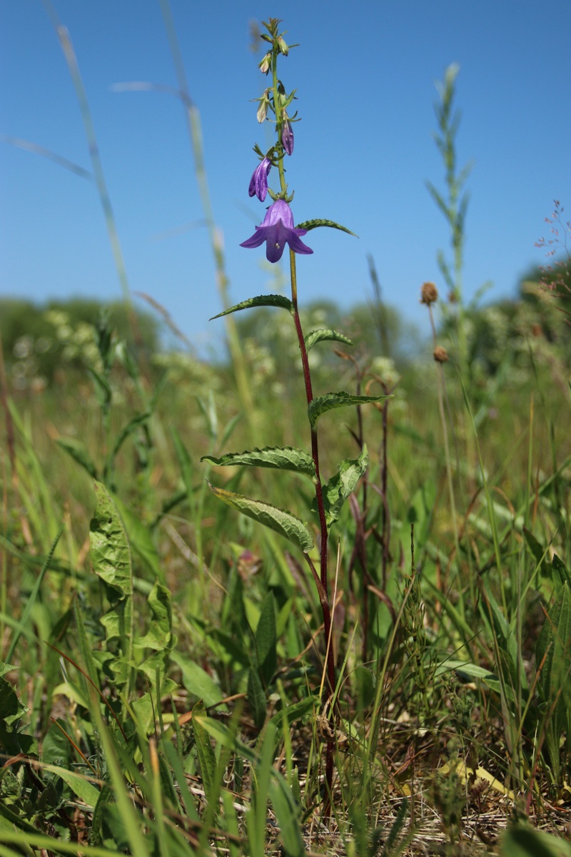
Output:
<path fill-rule="evenodd" d="M 112 89 L 124 81 L 175 86 L 158 0 L 54 0 L 86 87 L 129 285 L 164 304 L 200 351 L 223 335 L 211 250 L 180 103 L 163 93 Z M 266 79 L 249 50 L 249 22 L 283 18 L 290 43 L 281 77 L 297 89 L 288 183 L 297 222 L 332 230 L 306 237 L 298 264 L 302 301 L 348 306 L 370 294 L 366 255 L 386 301 L 422 321 L 419 287 L 442 284 L 436 251 L 449 235 L 425 181 L 443 188 L 434 81 L 459 63 L 458 155 L 468 180 L 466 296 L 513 295 L 544 251 L 553 200 L 571 205 L 569 0 L 171 0 L 191 95 L 200 111 L 215 218 L 223 231 L 230 298 L 274 291 L 263 249 L 239 244 L 265 205 L 247 187 Z M 39 0 L 0 3 L 0 131 L 50 149 L 86 170 L 80 109 L 56 33 Z M 0 144 L 0 293 L 116 299 L 121 288 L 97 192 L 51 161 Z M 271 174 L 272 177 L 272 174 Z M 198 224 L 198 225 L 197 225 Z M 190 228 L 182 228 L 191 225 Z M 285 257 L 284 257 L 285 258 Z"/>

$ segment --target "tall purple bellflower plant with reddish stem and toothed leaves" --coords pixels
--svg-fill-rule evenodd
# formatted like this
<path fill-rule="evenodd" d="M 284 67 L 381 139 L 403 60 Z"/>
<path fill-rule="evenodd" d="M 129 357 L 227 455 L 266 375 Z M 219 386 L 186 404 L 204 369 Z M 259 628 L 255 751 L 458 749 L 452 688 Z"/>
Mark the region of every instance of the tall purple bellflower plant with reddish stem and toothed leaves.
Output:
<path fill-rule="evenodd" d="M 321 682 L 320 692 L 324 691 L 323 719 L 335 722 L 338 717 L 338 702 L 336 701 L 336 665 L 334 647 L 331 645 L 331 603 L 329 589 L 328 569 L 328 538 L 330 526 L 334 524 L 341 512 L 342 504 L 348 499 L 349 494 L 357 487 L 360 477 L 365 473 L 368 457 L 366 446 L 363 447 L 359 458 L 346 459 L 339 464 L 338 472 L 325 482 L 321 476 L 318 443 L 318 419 L 326 411 L 345 405 L 360 405 L 364 402 L 379 401 L 386 396 L 360 396 L 345 393 L 324 393 L 314 396 L 312 390 L 312 376 L 309 368 L 308 352 L 313 345 L 324 340 L 343 342 L 353 345 L 350 339 L 337 333 L 335 330 L 312 330 L 304 336 L 297 297 L 297 273 L 296 255 L 309 255 L 313 250 L 306 246 L 300 239 L 306 232 L 317 226 L 330 226 L 353 235 L 344 226 L 334 223 L 332 220 L 315 219 L 294 226 L 294 215 L 289 203 L 294 194 L 288 193 L 288 185 L 285 181 L 283 159 L 286 155 L 294 152 L 294 134 L 292 123 L 299 121 L 297 113 L 288 116 L 288 109 L 295 97 L 295 90 L 287 93 L 283 82 L 277 77 L 277 62 L 280 57 L 287 57 L 288 52 L 294 45 L 288 45 L 283 38 L 285 33 L 279 33 L 280 21 L 271 18 L 264 21 L 267 33 L 261 38 L 270 45 L 270 50 L 259 63 L 263 74 L 271 73 L 271 87 L 265 89 L 261 99 L 264 109 L 257 110 L 257 119 L 262 122 L 271 122 L 275 125 L 276 141 L 267 153 L 263 153 L 259 146 L 254 147 L 260 163 L 253 172 L 250 180 L 249 194 L 257 196 L 259 201 L 265 201 L 266 195 L 273 200 L 271 206 L 265 213 L 262 224 L 256 226 L 252 237 L 241 243 L 241 247 L 255 249 L 265 242 L 265 255 L 268 261 L 278 262 L 282 258 L 286 244 L 289 247 L 289 273 L 291 280 L 291 299 L 283 295 L 260 295 L 248 298 L 246 301 L 236 304 L 234 307 L 225 309 L 220 315 L 228 315 L 241 309 L 250 307 L 270 306 L 288 309 L 294 321 L 295 332 L 300 346 L 300 360 L 303 369 L 303 377 L 306 390 L 307 417 L 309 422 L 309 436 L 311 440 L 311 453 L 303 449 L 294 449 L 291 446 L 277 447 L 265 446 L 263 449 L 254 449 L 249 452 L 229 452 L 221 458 L 205 456 L 203 460 L 210 464 L 220 466 L 249 465 L 258 467 L 272 467 L 281 470 L 295 470 L 308 476 L 315 488 L 314 512 L 316 520 L 313 525 L 306 524 L 288 510 L 271 506 L 265 500 L 253 500 L 241 494 L 235 494 L 224 488 L 210 486 L 213 494 L 232 506 L 242 514 L 253 518 L 260 524 L 276 530 L 285 536 L 290 542 L 300 549 L 304 560 L 311 572 L 313 581 L 318 591 L 318 598 L 323 612 L 324 620 L 324 676 Z M 272 190 L 268 186 L 268 174 L 271 166 L 277 167 L 279 176 L 279 190 Z M 219 316 L 215 316 L 218 318 Z M 314 530 L 318 534 L 318 548 L 314 548 Z M 318 569 L 316 568 L 318 563 Z M 266 710 L 259 704 L 260 698 L 264 698 L 265 690 L 271 686 L 272 676 L 263 671 L 263 665 L 253 663 L 248 678 L 247 698 L 250 704 L 254 721 L 261 728 L 265 722 Z M 330 727 L 331 728 L 331 727 Z M 335 743 L 331 740 L 325 744 L 325 783 L 326 795 L 324 801 L 324 813 L 330 813 L 330 796 L 333 782 L 333 750 Z"/>

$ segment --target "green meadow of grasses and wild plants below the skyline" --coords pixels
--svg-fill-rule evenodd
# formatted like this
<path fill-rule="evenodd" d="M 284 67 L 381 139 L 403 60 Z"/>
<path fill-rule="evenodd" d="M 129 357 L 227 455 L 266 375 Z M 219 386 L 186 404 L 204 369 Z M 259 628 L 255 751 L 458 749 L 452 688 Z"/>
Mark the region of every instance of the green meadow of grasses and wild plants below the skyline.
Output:
<path fill-rule="evenodd" d="M 464 301 L 454 87 L 432 342 L 5 305 L 0 857 L 571 854 L 568 257 Z"/>

